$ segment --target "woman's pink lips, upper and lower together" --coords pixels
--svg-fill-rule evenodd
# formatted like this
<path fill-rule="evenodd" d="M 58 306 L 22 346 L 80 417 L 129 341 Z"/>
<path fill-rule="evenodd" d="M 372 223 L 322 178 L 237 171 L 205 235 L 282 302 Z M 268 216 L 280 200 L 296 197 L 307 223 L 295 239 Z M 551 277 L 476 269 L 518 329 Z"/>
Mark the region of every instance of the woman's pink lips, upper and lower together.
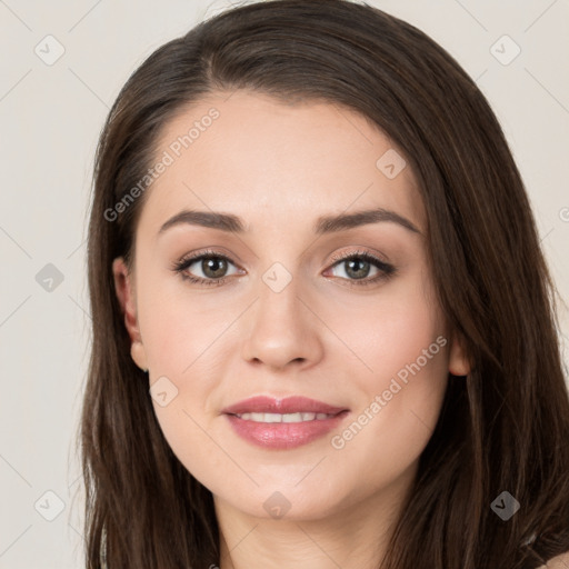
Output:
<path fill-rule="evenodd" d="M 306 397 L 274 399 L 259 396 L 234 403 L 222 411 L 233 431 L 248 442 L 264 449 L 286 450 L 308 445 L 337 428 L 349 415 L 349 409 L 335 407 Z M 257 422 L 237 415 L 259 413 L 327 413 L 328 419 L 301 422 Z"/>

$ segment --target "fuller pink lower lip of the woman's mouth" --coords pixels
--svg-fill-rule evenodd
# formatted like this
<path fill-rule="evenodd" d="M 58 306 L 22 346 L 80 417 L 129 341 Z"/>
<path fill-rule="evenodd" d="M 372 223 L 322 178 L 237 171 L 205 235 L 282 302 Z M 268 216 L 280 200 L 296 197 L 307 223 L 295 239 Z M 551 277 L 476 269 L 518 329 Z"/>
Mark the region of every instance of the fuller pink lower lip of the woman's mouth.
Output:
<path fill-rule="evenodd" d="M 292 449 L 317 440 L 337 428 L 349 411 L 301 422 L 257 422 L 226 415 L 233 430 L 244 440 L 267 449 Z"/>

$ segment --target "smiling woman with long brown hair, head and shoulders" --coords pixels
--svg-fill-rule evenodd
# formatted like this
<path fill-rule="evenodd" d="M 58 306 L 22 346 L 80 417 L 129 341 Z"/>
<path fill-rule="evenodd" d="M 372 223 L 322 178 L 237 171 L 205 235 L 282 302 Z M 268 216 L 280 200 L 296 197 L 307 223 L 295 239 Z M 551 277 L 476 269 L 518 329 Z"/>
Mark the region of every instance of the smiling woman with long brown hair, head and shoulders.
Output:
<path fill-rule="evenodd" d="M 476 83 L 345 0 L 162 46 L 101 134 L 87 565 L 569 566 L 555 288 Z"/>

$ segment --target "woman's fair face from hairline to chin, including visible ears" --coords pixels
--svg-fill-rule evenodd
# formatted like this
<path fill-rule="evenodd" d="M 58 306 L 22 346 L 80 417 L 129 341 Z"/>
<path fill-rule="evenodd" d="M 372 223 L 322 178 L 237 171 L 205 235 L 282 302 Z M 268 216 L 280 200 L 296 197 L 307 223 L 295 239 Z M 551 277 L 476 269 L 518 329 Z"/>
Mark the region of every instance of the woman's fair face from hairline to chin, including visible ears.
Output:
<path fill-rule="evenodd" d="M 467 370 L 402 152 L 348 109 L 244 91 L 160 140 L 134 266 L 113 270 L 176 456 L 218 505 L 262 518 L 318 519 L 409 482 L 449 370 Z M 253 397 L 268 399 L 234 407 Z"/>

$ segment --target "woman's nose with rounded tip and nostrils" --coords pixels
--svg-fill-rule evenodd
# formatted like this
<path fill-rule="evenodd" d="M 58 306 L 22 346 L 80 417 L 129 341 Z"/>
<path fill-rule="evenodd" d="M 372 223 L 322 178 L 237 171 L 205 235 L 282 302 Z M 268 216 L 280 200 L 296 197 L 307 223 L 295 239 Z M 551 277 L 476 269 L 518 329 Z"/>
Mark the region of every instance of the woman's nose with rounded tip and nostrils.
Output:
<path fill-rule="evenodd" d="M 258 299 L 244 322 L 242 357 L 247 361 L 279 371 L 311 367 L 322 358 L 323 323 L 298 280 L 292 278 L 280 291 L 259 282 Z"/>

